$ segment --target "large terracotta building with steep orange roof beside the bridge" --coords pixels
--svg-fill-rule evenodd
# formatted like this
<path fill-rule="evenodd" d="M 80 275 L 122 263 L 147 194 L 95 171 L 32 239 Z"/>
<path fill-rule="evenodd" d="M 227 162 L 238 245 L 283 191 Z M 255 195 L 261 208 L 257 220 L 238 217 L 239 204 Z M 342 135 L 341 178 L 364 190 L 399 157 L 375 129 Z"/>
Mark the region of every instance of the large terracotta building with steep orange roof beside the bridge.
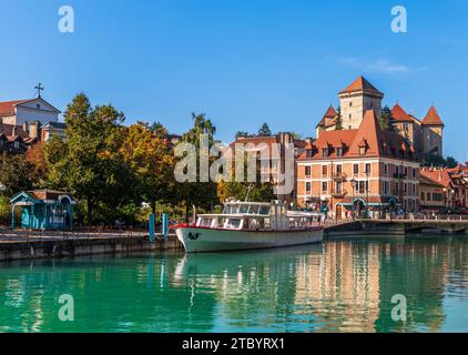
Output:
<path fill-rule="evenodd" d="M 419 209 L 419 162 L 400 134 L 383 131 L 375 110 L 357 129 L 322 131 L 297 160 L 297 203 L 336 219 L 385 217 Z"/>

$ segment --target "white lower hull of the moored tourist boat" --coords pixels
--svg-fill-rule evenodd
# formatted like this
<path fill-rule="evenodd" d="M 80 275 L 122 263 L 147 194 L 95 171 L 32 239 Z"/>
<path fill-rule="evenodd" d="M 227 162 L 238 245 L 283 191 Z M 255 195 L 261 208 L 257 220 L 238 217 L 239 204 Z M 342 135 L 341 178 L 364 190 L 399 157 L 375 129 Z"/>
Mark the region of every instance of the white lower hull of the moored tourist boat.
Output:
<path fill-rule="evenodd" d="M 179 227 L 177 239 L 187 253 L 243 251 L 321 243 L 323 229 L 304 231 L 232 231 Z"/>

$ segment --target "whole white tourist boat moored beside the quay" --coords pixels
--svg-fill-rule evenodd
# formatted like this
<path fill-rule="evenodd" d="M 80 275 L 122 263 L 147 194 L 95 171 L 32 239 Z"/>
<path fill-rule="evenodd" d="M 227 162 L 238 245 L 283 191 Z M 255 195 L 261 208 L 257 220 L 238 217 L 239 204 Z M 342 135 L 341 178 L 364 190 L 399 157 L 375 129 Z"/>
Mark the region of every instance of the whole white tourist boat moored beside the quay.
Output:
<path fill-rule="evenodd" d="M 202 214 L 175 231 L 187 253 L 255 250 L 321 243 L 324 219 L 278 201 L 227 202 L 223 213 Z"/>

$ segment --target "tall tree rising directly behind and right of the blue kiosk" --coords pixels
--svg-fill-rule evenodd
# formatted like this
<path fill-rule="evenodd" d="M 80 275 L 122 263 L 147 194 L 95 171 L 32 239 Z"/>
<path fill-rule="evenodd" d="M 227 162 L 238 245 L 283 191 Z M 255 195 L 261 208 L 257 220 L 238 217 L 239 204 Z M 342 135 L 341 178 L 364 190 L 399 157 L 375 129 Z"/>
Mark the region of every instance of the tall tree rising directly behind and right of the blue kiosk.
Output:
<path fill-rule="evenodd" d="M 94 222 L 94 210 L 128 203 L 132 175 L 120 146 L 124 138 L 122 112 L 112 105 L 91 106 L 78 94 L 64 113 L 67 142 L 52 141 L 45 149 L 51 163 L 48 182 L 65 189 L 85 203 L 87 222 Z"/>

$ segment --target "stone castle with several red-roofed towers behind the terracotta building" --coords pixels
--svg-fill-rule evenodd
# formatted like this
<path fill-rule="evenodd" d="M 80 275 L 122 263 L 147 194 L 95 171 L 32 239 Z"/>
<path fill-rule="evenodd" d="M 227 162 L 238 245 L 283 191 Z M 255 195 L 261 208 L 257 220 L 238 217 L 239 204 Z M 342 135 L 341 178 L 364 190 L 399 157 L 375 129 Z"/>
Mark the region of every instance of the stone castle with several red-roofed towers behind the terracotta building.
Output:
<path fill-rule="evenodd" d="M 343 130 L 357 130 L 367 110 L 374 110 L 377 118 L 381 115 L 384 93 L 363 77 L 340 91 L 338 98 Z M 444 122 L 434 105 L 419 120 L 396 103 L 391 116 L 395 131 L 413 145 L 419 159 L 426 154 L 442 156 Z M 338 112 L 330 105 L 316 126 L 316 136 L 319 138 L 321 132 L 336 130 L 337 122 Z"/>

